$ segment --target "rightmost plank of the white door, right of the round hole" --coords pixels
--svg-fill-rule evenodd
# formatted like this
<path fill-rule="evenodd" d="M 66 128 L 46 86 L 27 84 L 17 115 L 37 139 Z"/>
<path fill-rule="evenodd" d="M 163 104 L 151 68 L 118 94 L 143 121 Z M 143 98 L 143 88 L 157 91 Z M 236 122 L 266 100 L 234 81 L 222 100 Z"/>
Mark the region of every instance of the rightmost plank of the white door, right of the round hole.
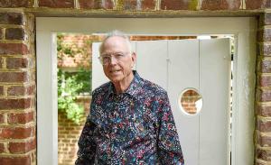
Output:
<path fill-rule="evenodd" d="M 229 156 L 229 39 L 200 41 L 201 164 L 228 164 Z"/>

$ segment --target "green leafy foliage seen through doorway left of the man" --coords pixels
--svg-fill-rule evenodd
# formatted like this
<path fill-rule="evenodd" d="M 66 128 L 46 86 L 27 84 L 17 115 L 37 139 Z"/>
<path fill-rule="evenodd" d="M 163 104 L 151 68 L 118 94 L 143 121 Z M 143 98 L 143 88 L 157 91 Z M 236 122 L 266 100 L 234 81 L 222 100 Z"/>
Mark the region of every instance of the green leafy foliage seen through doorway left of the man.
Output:
<path fill-rule="evenodd" d="M 76 45 L 64 44 L 63 38 L 63 34 L 57 35 L 58 60 L 61 60 L 63 55 L 74 57 L 77 53 L 86 53 L 84 48 L 79 49 Z M 84 107 L 76 103 L 76 99 L 80 94 L 89 94 L 90 79 L 91 71 L 87 69 L 81 68 L 76 72 L 58 69 L 58 109 L 75 124 L 79 124 L 84 116 Z"/>

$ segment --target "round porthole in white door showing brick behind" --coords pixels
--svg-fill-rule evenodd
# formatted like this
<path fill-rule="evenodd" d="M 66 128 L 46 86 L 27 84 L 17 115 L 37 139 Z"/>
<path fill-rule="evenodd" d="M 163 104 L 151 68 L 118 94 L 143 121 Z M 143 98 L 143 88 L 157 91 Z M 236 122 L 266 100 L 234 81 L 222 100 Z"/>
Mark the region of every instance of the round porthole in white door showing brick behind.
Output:
<path fill-rule="evenodd" d="M 196 115 L 201 111 L 202 98 L 196 89 L 185 89 L 182 92 L 179 100 L 181 109 L 185 114 Z"/>

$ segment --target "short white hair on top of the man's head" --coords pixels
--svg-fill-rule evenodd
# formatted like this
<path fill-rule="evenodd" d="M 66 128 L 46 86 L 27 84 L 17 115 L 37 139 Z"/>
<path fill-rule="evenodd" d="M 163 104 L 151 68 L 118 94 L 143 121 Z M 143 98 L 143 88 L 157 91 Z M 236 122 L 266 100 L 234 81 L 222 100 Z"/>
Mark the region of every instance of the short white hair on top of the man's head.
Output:
<path fill-rule="evenodd" d="M 114 30 L 112 32 L 108 32 L 107 37 L 100 44 L 100 46 L 99 46 L 99 53 L 100 54 L 102 53 L 102 51 L 104 49 L 104 44 L 107 41 L 107 39 L 110 37 L 115 37 L 115 36 L 125 39 L 129 52 L 132 52 L 132 44 L 131 44 L 130 38 L 126 35 L 126 33 Z"/>

